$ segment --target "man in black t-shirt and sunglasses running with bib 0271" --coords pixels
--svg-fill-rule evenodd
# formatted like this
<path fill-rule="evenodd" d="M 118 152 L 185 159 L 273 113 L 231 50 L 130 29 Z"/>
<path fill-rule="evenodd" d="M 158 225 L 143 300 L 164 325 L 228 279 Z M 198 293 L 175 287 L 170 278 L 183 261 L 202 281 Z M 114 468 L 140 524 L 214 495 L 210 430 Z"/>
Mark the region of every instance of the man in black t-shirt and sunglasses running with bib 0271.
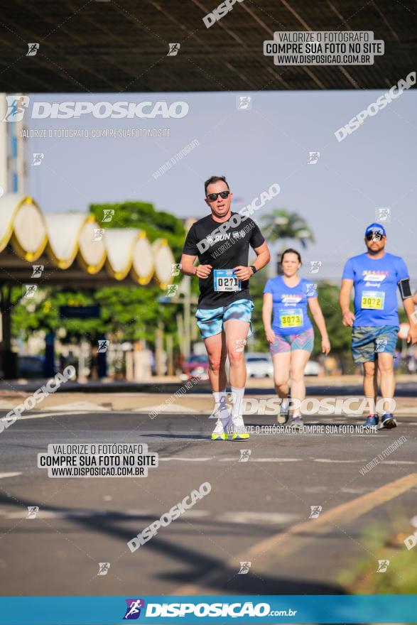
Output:
<path fill-rule="evenodd" d="M 242 418 L 246 384 L 244 345 L 251 336 L 254 308 L 249 278 L 271 259 L 268 245 L 249 211 L 231 212 L 232 198 L 224 176 L 206 180 L 205 202 L 211 214 L 190 228 L 181 258 L 183 273 L 200 278 L 195 317 L 209 357 L 209 378 L 218 416 L 212 440 L 227 440 L 229 434 L 233 440 L 249 438 Z M 249 245 L 256 253 L 256 261 L 248 267 Z M 200 264 L 195 267 L 197 257 Z M 231 415 L 226 406 L 227 357 Z"/>

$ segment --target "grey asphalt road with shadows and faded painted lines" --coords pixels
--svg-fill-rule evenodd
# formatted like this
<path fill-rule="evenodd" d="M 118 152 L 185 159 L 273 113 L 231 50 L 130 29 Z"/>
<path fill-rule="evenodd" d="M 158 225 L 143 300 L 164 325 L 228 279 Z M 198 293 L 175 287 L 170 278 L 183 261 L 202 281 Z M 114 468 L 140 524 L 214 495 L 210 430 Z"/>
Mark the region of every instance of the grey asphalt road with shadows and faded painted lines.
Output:
<path fill-rule="evenodd" d="M 213 425 L 205 415 L 116 412 L 33 413 L 11 425 L 0 435 L 1 594 L 339 594 L 340 571 L 363 558 L 376 571 L 384 558 L 366 538 L 375 523 L 411 533 L 411 418 L 375 434 L 253 433 L 245 442 L 212 442 Z M 274 418 L 247 425 L 256 431 Z M 361 474 L 401 436 L 399 449 Z M 47 477 L 38 452 L 67 442 L 146 442 L 159 466 L 148 477 Z M 248 462 L 239 462 L 242 449 Z M 131 553 L 128 540 L 203 482 L 210 494 Z M 26 518 L 28 506 L 39 506 L 36 518 Z M 318 518 L 310 506 L 321 506 Z M 247 574 L 242 561 L 251 562 Z M 99 562 L 110 563 L 106 575 Z"/>

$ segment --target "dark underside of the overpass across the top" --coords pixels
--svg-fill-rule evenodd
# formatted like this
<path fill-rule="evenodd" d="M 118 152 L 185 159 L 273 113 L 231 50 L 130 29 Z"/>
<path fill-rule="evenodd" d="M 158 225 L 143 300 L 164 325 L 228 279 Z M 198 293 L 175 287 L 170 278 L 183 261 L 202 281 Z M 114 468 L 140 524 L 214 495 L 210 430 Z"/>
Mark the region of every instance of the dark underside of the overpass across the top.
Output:
<path fill-rule="evenodd" d="M 218 0 L 16 0 L 1 10 L 5 92 L 382 89 L 415 69 L 411 0 L 244 0 L 206 28 Z M 374 65 L 277 66 L 274 31 L 374 31 Z M 28 43 L 39 43 L 26 56 Z M 180 43 L 175 56 L 168 44 Z"/>

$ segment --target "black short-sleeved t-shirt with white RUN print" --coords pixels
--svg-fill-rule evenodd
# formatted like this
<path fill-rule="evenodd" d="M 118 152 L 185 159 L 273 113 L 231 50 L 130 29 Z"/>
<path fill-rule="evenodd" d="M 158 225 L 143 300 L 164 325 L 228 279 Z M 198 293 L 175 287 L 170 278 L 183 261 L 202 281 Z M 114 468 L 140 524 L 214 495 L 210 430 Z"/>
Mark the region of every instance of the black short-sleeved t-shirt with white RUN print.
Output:
<path fill-rule="evenodd" d="M 237 213 L 232 212 L 230 219 L 234 215 Z M 233 222 L 236 221 L 236 219 L 233 220 Z M 236 227 L 230 224 L 229 229 L 225 230 L 224 234 L 214 234 L 210 239 L 212 232 L 225 223 L 227 222 L 215 222 L 211 214 L 207 215 L 190 227 L 185 239 L 183 254 L 197 256 L 201 265 L 212 266 L 208 278 L 199 278 L 198 308 L 220 308 L 220 306 L 227 306 L 235 300 L 251 300 L 249 280 L 242 281 L 242 289 L 238 291 L 215 291 L 214 270 L 234 269 L 239 265 L 247 267 L 249 245 L 252 248 L 260 247 L 265 239 L 257 224 L 250 217 L 242 219 L 242 222 Z M 208 249 L 200 251 L 197 243 L 203 240 L 205 241 L 205 248 Z"/>

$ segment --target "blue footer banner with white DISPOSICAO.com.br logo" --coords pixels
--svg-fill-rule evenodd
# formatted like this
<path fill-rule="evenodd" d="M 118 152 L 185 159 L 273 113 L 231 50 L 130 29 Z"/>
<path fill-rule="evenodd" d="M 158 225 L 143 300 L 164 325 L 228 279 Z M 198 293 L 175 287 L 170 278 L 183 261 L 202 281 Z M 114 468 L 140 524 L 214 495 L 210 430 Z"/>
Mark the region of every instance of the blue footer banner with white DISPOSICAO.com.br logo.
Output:
<path fill-rule="evenodd" d="M 417 623 L 416 594 L 0 597 L 1 625 Z"/>

